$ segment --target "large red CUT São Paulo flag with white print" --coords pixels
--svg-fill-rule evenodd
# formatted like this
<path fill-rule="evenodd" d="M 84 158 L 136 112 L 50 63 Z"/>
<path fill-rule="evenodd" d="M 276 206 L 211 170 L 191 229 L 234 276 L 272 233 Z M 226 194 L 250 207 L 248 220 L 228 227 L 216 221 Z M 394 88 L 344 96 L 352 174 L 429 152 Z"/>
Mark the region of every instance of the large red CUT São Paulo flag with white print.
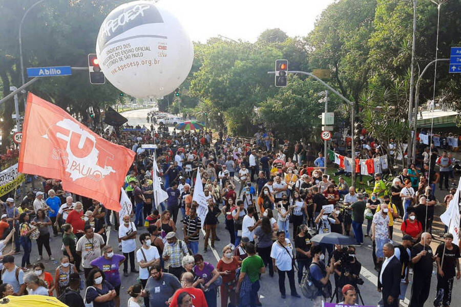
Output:
<path fill-rule="evenodd" d="M 60 107 L 27 97 L 18 171 L 60 179 L 62 188 L 120 210 L 135 152 L 104 140 Z"/>

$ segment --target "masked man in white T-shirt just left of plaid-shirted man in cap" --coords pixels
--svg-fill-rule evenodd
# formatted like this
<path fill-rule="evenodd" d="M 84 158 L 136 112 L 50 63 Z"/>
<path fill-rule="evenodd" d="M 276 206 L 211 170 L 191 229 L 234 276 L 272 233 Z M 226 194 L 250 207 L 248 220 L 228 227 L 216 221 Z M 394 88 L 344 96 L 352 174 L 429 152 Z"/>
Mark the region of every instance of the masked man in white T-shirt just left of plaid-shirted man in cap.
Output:
<path fill-rule="evenodd" d="M 149 269 L 160 264 L 160 255 L 155 246 L 151 246 L 151 235 L 148 232 L 141 233 L 139 241 L 142 246 L 136 252 L 136 260 L 139 265 L 139 280 L 141 281 L 142 288 L 145 288 L 145 284 L 151 275 Z M 148 303 L 146 303 L 146 301 Z M 149 297 L 144 297 L 144 305 L 149 306 Z"/>

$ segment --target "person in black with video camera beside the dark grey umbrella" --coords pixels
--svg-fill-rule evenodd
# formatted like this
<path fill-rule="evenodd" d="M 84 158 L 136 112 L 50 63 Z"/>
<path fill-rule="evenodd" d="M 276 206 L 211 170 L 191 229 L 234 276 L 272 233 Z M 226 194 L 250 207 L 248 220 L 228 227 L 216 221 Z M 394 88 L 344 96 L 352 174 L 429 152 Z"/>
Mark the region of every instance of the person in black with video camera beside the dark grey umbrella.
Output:
<path fill-rule="evenodd" d="M 334 264 L 334 281 L 337 302 L 343 300 L 341 289 L 346 284 L 351 284 L 359 296 L 360 291 L 358 285 L 364 283 L 363 279 L 359 276 L 362 264 L 359 260 L 357 260 L 357 258 L 355 258 L 355 247 L 349 246 L 347 248 L 343 248 L 343 250 L 344 253 L 341 253 L 341 258 L 339 258 L 339 260 Z"/>

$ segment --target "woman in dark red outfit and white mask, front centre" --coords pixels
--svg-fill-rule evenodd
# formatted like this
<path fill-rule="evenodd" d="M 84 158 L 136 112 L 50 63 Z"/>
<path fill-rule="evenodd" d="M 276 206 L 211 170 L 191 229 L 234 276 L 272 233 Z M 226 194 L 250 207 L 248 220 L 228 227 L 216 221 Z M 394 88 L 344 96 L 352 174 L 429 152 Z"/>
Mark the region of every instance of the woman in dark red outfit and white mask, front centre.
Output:
<path fill-rule="evenodd" d="M 235 271 L 239 267 L 239 261 L 234 257 L 230 246 L 222 249 L 222 258 L 219 259 L 216 269 L 222 276 L 221 284 L 221 306 L 227 306 L 228 299 L 233 306 L 237 305 L 235 287 Z"/>

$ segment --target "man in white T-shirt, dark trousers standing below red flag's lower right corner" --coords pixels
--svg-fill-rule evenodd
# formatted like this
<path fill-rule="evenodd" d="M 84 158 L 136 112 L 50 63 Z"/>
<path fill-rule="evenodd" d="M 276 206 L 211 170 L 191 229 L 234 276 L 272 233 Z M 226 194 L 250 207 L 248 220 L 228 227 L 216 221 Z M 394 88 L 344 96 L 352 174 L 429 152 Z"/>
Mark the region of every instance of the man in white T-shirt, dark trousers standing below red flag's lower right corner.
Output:
<path fill-rule="evenodd" d="M 128 257 L 130 257 L 131 272 L 138 273 L 134 263 L 134 251 L 136 249 L 136 226 L 130 222 L 130 216 L 123 216 L 123 224 L 118 226 L 118 238 L 122 242 L 122 253 L 125 256 L 123 262 L 123 276 L 128 276 Z"/>

